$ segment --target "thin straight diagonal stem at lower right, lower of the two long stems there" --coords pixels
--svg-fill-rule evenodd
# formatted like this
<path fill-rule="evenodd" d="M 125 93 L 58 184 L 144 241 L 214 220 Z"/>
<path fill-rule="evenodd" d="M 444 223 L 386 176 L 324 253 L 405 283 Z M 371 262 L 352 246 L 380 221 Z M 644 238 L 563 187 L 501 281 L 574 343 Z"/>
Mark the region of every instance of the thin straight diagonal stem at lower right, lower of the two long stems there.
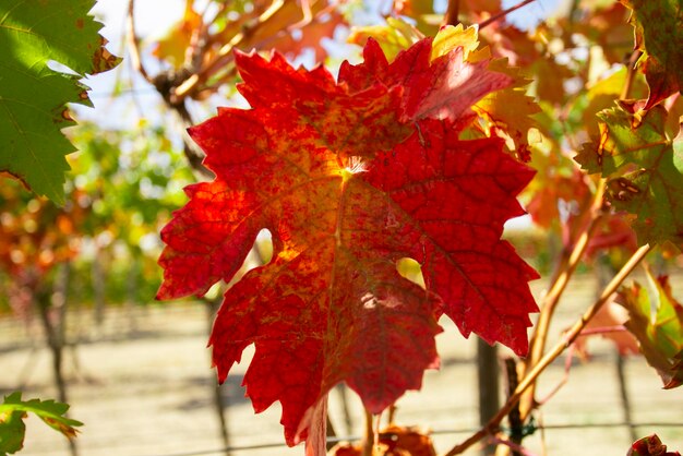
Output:
<path fill-rule="evenodd" d="M 553 362 L 576 338 L 582 331 L 586 327 L 588 322 L 598 313 L 600 308 L 609 300 L 609 298 L 616 291 L 625 278 L 633 272 L 633 269 L 640 263 L 645 255 L 651 250 L 649 244 L 640 247 L 631 256 L 628 262 L 621 268 L 621 271 L 612 278 L 612 280 L 604 287 L 602 293 L 598 300 L 582 315 L 582 317 L 574 323 L 574 325 L 567 331 L 564 337 L 550 350 L 531 371 L 519 382 L 515 393 L 507 399 L 507 401 L 501 407 L 498 413 L 489 420 L 487 425 L 481 428 L 475 434 L 469 436 L 465 442 L 454 446 L 444 456 L 454 456 L 463 453 L 465 449 L 472 446 L 487 435 L 492 435 L 498 431 L 500 422 L 507 416 L 510 410 L 513 409 L 515 404 L 519 400 L 524 392 L 531 386 L 536 379 L 546 370 L 551 362 Z"/>

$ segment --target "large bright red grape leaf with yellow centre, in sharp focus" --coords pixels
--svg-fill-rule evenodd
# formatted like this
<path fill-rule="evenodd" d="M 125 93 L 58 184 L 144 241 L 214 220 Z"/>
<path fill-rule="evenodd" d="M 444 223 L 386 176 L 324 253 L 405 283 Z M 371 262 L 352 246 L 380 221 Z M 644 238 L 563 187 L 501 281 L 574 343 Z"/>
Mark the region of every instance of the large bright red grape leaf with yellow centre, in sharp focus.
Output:
<path fill-rule="evenodd" d="M 466 337 L 527 351 L 537 274 L 500 237 L 524 214 L 516 195 L 534 171 L 502 140 L 458 139 L 469 107 L 510 77 L 463 62 L 459 48 L 430 53 L 424 39 L 390 64 L 370 40 L 340 83 L 277 53 L 237 53 L 252 109 L 190 130 L 216 179 L 188 187 L 161 231 L 158 298 L 229 281 L 271 231 L 273 259 L 226 292 L 209 344 L 221 381 L 255 344 L 247 394 L 256 411 L 281 403 L 289 444 L 342 381 L 372 412 L 419 388 L 439 365 L 442 313 Z M 426 288 L 398 274 L 405 257 Z"/>

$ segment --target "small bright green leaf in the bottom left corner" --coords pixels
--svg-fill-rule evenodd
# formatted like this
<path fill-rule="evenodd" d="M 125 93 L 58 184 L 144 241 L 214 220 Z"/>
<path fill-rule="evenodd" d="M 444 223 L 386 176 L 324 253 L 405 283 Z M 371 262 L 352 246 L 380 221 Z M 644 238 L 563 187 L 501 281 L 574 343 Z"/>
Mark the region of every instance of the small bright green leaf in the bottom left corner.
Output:
<path fill-rule="evenodd" d="M 69 410 L 67 404 L 55 400 L 22 400 L 20 392 L 5 396 L 4 401 L 0 404 L 0 456 L 22 449 L 26 431 L 23 419 L 28 412 L 35 413 L 46 424 L 67 437 L 75 437 L 75 427 L 83 425 L 83 423 L 67 418 L 64 416 L 67 410 Z"/>

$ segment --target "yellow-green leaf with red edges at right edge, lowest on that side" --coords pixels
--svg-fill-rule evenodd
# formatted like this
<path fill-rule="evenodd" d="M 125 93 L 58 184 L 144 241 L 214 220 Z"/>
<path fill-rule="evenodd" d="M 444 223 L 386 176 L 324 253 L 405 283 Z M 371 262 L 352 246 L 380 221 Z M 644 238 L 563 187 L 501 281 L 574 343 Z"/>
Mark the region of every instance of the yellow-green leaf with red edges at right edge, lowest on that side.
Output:
<path fill-rule="evenodd" d="M 648 271 L 648 278 L 656 290 L 654 296 L 638 283 L 620 291 L 621 304 L 630 316 L 624 325 L 669 389 L 683 383 L 683 307 L 673 298 L 667 276 L 655 279 Z"/>

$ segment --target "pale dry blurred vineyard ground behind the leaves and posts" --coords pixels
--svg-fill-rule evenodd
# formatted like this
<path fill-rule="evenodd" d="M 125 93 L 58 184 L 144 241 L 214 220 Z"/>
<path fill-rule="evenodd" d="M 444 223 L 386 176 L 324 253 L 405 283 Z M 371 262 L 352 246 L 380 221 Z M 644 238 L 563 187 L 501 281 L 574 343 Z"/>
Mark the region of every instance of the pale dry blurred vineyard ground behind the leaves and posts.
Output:
<path fill-rule="evenodd" d="M 537 295 L 543 284 L 535 284 Z M 595 296 L 590 278 L 574 285 L 559 309 L 551 343 L 559 339 Z M 674 293 L 676 291 L 674 290 Z M 680 292 L 679 292 L 680 295 Z M 182 302 L 132 310 L 109 310 L 101 327 L 92 312 L 73 312 L 67 352 L 71 416 L 85 423 L 77 439 L 81 456 L 224 455 L 213 408 L 214 377 L 209 367 L 207 315 L 202 304 Z M 397 421 L 434 432 L 445 452 L 477 428 L 476 343 L 465 340 L 442 321 L 438 337 L 442 368 L 424 376 L 421 392 L 398 403 Z M 50 358 L 37 326 L 26 331 L 14 319 L 0 320 L 0 393 L 22 387 L 24 397 L 56 397 Z M 624 409 L 616 375 L 616 355 L 606 341 L 591 343 L 592 358 L 574 361 L 568 381 L 537 413 L 542 430 L 525 440 L 534 454 L 553 456 L 625 455 L 631 443 L 623 425 Z M 501 356 L 505 350 L 500 350 Z M 243 397 L 241 377 L 250 356 L 233 369 L 221 388 L 227 409 L 232 456 L 302 455 L 302 447 L 281 444 L 279 409 L 254 415 Z M 640 357 L 625 360 L 626 387 L 635 432 L 657 432 L 670 449 L 683 451 L 683 391 L 662 391 L 659 377 Z M 564 375 L 564 359 L 541 377 L 539 395 Z M 345 435 L 359 435 L 361 408 L 348 392 L 352 427 L 347 429 L 340 394 L 331 394 L 332 420 Z M 659 424 L 658 424 L 659 423 Z M 65 440 L 35 418 L 27 421 L 24 456 L 69 455 Z M 478 454 L 471 449 L 467 454 Z"/>

